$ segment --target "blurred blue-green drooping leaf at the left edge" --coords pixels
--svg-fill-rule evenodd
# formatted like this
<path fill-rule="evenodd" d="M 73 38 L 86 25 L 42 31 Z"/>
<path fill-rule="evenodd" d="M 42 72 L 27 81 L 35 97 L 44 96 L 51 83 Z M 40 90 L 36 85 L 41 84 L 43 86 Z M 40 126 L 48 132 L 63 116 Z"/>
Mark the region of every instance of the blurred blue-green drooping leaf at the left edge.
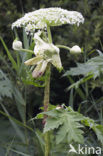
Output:
<path fill-rule="evenodd" d="M 0 96 L 7 96 L 12 98 L 12 95 L 15 98 L 15 103 L 17 105 L 21 119 L 22 121 L 25 121 L 24 108 L 26 106 L 26 102 L 22 97 L 22 94 L 19 91 L 19 89 L 12 83 L 12 81 L 7 77 L 7 75 L 2 70 L 0 70 Z"/>

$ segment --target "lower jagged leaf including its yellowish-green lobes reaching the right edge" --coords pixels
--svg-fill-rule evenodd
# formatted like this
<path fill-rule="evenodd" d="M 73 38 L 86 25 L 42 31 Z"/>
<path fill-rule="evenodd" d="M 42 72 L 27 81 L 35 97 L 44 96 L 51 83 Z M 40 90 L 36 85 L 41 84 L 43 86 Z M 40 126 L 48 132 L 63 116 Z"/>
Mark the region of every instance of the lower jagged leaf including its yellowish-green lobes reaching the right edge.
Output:
<path fill-rule="evenodd" d="M 68 143 L 74 141 L 78 143 L 84 142 L 83 128 L 90 127 L 97 135 L 98 140 L 103 144 L 103 126 L 85 117 L 82 114 L 73 111 L 71 107 L 66 109 L 53 109 L 43 112 L 48 118 L 44 127 L 44 133 L 50 130 L 56 130 L 56 144 L 67 140 Z"/>

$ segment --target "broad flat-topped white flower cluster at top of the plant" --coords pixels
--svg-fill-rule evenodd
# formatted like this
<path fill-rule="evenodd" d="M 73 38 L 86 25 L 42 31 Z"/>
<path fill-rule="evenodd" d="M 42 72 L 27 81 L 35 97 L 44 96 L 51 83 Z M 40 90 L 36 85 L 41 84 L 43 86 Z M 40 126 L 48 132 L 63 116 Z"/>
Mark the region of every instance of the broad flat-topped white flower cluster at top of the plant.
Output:
<path fill-rule="evenodd" d="M 68 11 L 61 8 L 44 8 L 29 12 L 24 17 L 12 24 L 14 27 L 25 27 L 26 32 L 34 32 L 35 29 L 46 29 L 48 26 L 59 26 L 62 24 L 77 24 L 84 22 L 81 13 Z"/>

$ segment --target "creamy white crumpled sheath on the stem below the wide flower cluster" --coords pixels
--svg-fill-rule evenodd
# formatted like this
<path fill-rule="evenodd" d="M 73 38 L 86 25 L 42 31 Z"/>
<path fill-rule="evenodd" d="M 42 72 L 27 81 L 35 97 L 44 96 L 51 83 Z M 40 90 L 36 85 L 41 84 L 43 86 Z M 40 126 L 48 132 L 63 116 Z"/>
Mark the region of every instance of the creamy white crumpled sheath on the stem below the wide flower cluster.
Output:
<path fill-rule="evenodd" d="M 25 62 L 25 65 L 36 65 L 32 76 L 34 78 L 42 76 L 48 63 L 52 63 L 57 69 L 62 70 L 59 48 L 52 43 L 43 41 L 38 33 L 35 33 L 34 40 L 36 44 L 34 54 L 36 57 Z"/>

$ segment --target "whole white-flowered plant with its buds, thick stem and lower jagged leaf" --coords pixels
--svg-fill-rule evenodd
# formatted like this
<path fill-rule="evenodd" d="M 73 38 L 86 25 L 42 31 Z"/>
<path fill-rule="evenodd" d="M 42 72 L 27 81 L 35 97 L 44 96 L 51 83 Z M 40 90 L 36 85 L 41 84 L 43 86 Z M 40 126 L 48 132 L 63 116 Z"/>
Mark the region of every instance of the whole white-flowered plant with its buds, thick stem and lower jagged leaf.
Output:
<path fill-rule="evenodd" d="M 36 80 L 45 75 L 44 83 L 44 112 L 36 116 L 35 119 L 43 119 L 45 156 L 51 153 L 51 140 L 60 143 L 84 143 L 84 128 L 89 127 L 93 130 L 99 141 L 103 144 L 103 127 L 96 124 L 94 120 L 75 112 L 71 107 L 53 106 L 49 104 L 50 97 L 50 76 L 51 66 L 59 71 L 63 69 L 60 59 L 60 48 L 67 49 L 72 55 L 81 53 L 79 46 L 72 48 L 64 45 L 54 45 L 51 35 L 51 26 L 63 24 L 75 24 L 79 26 L 84 23 L 81 13 L 67 11 L 61 8 L 45 8 L 30 12 L 12 24 L 12 29 L 23 27 L 30 42 L 34 43 L 34 50 L 23 49 L 23 44 L 18 37 L 13 42 L 13 49 L 16 51 L 31 53 L 31 58 L 24 63 L 30 67 L 32 77 Z M 33 56 L 34 55 L 34 56 Z M 53 135 L 54 134 L 54 135 Z"/>

